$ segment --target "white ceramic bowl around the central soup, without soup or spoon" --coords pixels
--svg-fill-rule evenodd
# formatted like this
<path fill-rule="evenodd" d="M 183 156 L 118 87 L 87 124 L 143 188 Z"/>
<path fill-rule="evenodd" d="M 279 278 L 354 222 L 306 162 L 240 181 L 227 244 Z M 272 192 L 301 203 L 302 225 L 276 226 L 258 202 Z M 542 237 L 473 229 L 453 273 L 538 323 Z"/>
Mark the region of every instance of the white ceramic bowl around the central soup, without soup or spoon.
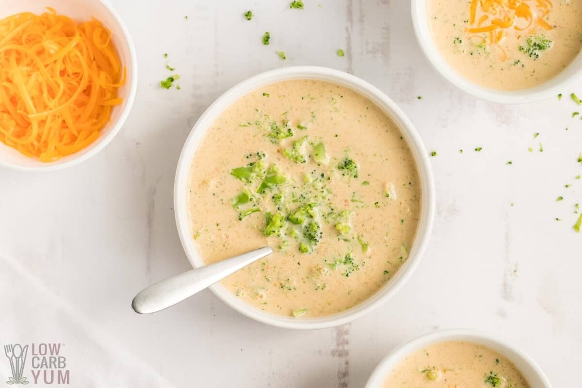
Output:
<path fill-rule="evenodd" d="M 279 326 L 282 328 L 292 328 L 292 329 L 319 329 L 328 328 L 331 326 L 342 325 L 343 323 L 353 321 L 353 319 L 359 318 L 360 316 L 372 311 L 377 308 L 383 302 L 388 300 L 393 294 L 396 293 L 400 287 L 409 279 L 410 275 L 418 265 L 420 258 L 423 254 L 424 248 L 427 245 L 428 237 L 430 236 L 432 219 L 434 218 L 434 183 L 432 181 L 432 172 L 430 163 L 428 161 L 428 154 L 424 148 L 424 145 L 418 136 L 416 129 L 414 129 L 413 124 L 409 119 L 406 118 L 404 113 L 394 104 L 394 102 L 386 97 L 384 93 L 379 91 L 377 88 L 371 86 L 367 82 L 354 77 L 350 74 L 340 72 L 339 70 L 328 69 L 325 67 L 313 67 L 313 66 L 297 66 L 297 67 L 285 67 L 282 69 L 271 70 L 269 72 L 258 74 L 257 76 L 251 77 L 230 90 L 226 91 L 225 94 L 221 95 L 208 109 L 200 116 L 198 122 L 194 124 L 190 135 L 186 139 L 186 144 L 182 149 L 182 154 L 178 161 L 178 169 L 176 170 L 176 181 L 174 184 L 174 209 L 176 214 L 176 223 L 178 225 L 178 233 L 180 235 L 180 240 L 186 251 L 186 255 L 190 260 L 190 263 L 194 267 L 200 267 L 204 265 L 203 259 L 200 257 L 194 239 L 190 232 L 190 225 L 186 209 L 186 194 L 188 193 L 188 175 L 190 171 L 190 163 L 194 156 L 194 152 L 198 147 L 201 139 L 204 138 L 208 127 L 214 122 L 214 120 L 224 111 L 229 105 L 237 101 L 240 97 L 253 91 L 266 84 L 275 83 L 283 80 L 290 79 L 317 79 L 331 81 L 336 84 L 351 88 L 365 97 L 369 98 L 372 102 L 377 104 L 380 108 L 392 118 L 392 120 L 398 125 L 410 144 L 410 148 L 416 156 L 416 162 L 418 169 L 420 170 L 420 178 L 422 183 L 422 211 L 420 223 L 418 225 L 418 232 L 416 240 L 410 251 L 410 257 L 406 263 L 400 268 L 396 273 L 396 276 L 392 278 L 378 291 L 377 294 L 364 301 L 363 303 L 357 305 L 340 314 L 326 316 L 322 318 L 306 318 L 306 319 L 296 319 L 288 318 L 285 316 L 269 314 L 267 312 L 261 311 L 260 309 L 252 307 L 250 304 L 240 300 L 234 296 L 230 291 L 228 291 L 222 284 L 217 283 L 211 286 L 212 292 L 219 297 L 223 302 L 228 304 L 230 307 L 239 311 L 241 314 L 248 316 L 249 318 L 255 319 L 256 321 L 267 323 L 269 325 Z M 234 147 L 236 145 L 233 144 Z"/>

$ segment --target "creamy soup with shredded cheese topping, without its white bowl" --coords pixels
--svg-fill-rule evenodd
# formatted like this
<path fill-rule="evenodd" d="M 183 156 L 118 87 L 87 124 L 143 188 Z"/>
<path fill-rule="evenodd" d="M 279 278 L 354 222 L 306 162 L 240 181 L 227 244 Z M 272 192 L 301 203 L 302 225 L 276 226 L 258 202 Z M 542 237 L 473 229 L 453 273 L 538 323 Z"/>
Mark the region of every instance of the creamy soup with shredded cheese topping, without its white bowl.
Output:
<path fill-rule="evenodd" d="M 437 48 L 485 87 L 533 87 L 565 69 L 582 47 L 580 0 L 427 0 Z"/>

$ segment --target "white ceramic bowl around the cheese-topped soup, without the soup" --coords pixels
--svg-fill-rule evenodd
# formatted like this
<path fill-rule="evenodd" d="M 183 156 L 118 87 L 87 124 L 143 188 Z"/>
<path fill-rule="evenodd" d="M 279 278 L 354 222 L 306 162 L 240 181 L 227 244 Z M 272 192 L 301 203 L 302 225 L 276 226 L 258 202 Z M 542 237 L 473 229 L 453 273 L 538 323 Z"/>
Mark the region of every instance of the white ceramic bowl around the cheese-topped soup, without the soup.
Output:
<path fill-rule="evenodd" d="M 580 53 L 556 77 L 532 88 L 505 91 L 487 88 L 473 83 L 450 67 L 438 48 L 435 47 L 430 26 L 427 23 L 427 1 L 429 0 L 411 0 L 412 24 L 418 44 L 437 72 L 441 73 L 446 80 L 467 94 L 500 104 L 524 104 L 526 102 L 555 97 L 560 92 L 565 93 L 573 84 L 582 81 L 582 53 Z"/>

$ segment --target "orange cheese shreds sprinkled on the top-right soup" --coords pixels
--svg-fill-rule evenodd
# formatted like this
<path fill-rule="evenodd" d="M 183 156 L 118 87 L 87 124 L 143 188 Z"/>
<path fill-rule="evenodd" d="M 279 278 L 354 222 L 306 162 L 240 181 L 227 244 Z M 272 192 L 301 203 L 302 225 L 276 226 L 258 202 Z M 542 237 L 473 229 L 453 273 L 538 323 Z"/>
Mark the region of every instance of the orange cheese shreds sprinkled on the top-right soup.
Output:
<path fill-rule="evenodd" d="M 545 20 L 551 9 L 551 0 L 471 0 L 467 31 L 489 45 L 499 46 L 510 29 L 524 31 L 535 23 L 544 30 L 552 30 Z"/>

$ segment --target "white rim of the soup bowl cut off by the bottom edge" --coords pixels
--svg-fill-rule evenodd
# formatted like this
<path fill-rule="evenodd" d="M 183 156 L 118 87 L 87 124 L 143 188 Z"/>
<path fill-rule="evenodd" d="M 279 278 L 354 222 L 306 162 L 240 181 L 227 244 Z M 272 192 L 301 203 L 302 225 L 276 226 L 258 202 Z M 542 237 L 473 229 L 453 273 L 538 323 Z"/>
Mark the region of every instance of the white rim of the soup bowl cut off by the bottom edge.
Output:
<path fill-rule="evenodd" d="M 513 363 L 515 363 L 515 359 L 519 359 L 520 362 L 523 362 L 534 371 L 535 377 L 540 380 L 542 385 L 532 386 L 532 388 L 552 388 L 544 371 L 521 348 L 502 339 L 498 334 L 474 329 L 441 329 L 407 341 L 382 358 L 366 382 L 365 388 L 382 388 L 386 375 L 388 375 L 393 364 L 424 346 L 444 341 L 467 341 L 482 344 L 486 347 L 503 348 L 504 351 L 511 353 L 511 358 L 503 351 L 494 350 L 508 357 Z"/>

